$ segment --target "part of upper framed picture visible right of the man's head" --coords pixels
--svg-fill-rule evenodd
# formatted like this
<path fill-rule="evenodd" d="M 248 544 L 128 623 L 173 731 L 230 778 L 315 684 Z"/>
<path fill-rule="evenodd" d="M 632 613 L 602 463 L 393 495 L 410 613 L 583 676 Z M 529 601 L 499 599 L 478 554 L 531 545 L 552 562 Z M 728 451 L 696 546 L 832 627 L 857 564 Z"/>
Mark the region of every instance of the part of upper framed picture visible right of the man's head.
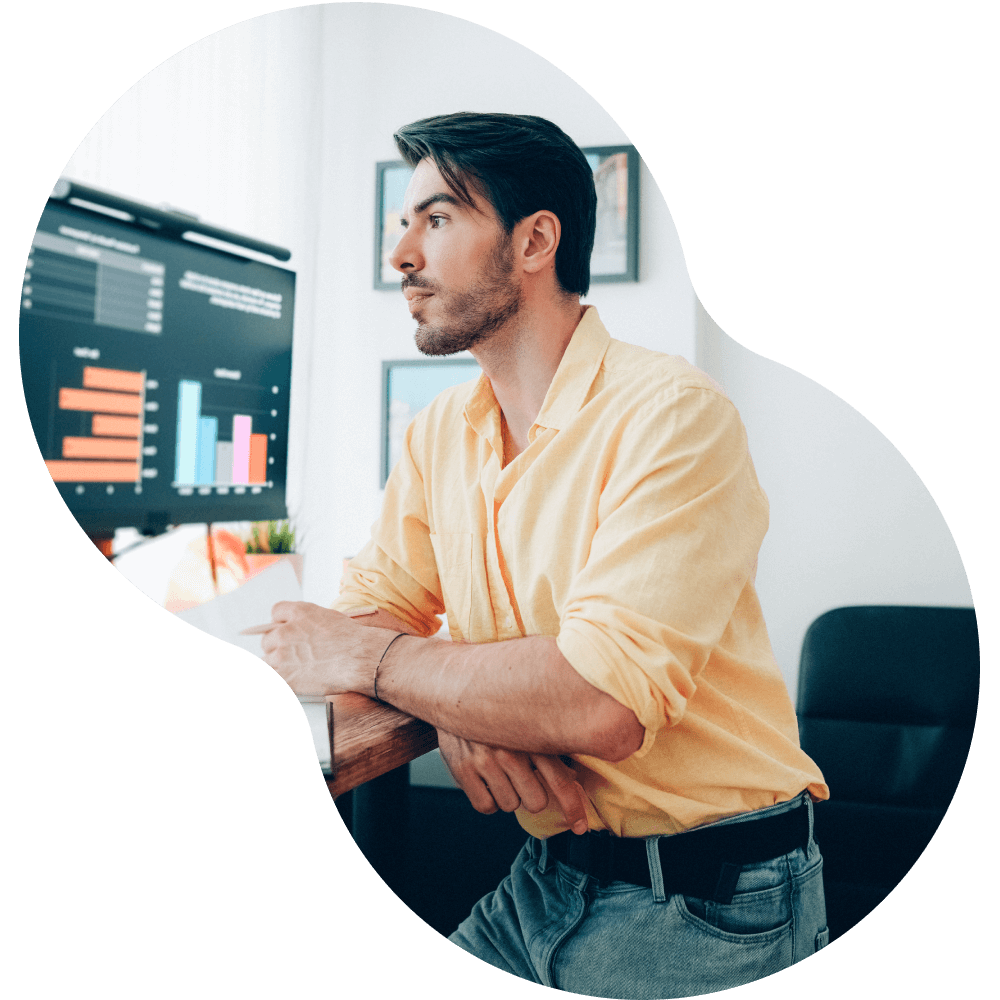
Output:
<path fill-rule="evenodd" d="M 597 186 L 592 283 L 639 280 L 639 152 L 635 146 L 587 146 Z"/>

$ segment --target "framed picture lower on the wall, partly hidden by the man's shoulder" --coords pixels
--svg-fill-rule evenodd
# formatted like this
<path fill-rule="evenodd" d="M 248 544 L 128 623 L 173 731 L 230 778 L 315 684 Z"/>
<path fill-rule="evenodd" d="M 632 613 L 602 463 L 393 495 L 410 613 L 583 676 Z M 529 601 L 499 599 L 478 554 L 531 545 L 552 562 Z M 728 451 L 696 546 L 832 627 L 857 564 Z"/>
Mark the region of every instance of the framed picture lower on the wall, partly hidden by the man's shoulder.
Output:
<path fill-rule="evenodd" d="M 403 451 L 410 421 L 439 393 L 477 379 L 482 369 L 470 357 L 382 362 L 382 464 L 386 480 Z"/>

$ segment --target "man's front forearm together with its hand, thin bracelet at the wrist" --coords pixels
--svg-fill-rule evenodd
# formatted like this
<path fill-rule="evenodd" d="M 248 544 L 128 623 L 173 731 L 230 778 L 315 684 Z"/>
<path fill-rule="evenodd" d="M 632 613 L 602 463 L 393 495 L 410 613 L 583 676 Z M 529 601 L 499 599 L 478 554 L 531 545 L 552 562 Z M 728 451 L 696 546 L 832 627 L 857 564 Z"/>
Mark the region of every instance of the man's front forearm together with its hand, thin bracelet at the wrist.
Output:
<path fill-rule="evenodd" d="M 487 746 L 618 761 L 642 745 L 635 714 L 584 680 L 554 638 L 422 639 L 383 611 L 364 627 L 359 611 L 279 601 L 261 640 L 267 663 L 298 694 L 372 697 L 377 668 L 382 701 Z"/>

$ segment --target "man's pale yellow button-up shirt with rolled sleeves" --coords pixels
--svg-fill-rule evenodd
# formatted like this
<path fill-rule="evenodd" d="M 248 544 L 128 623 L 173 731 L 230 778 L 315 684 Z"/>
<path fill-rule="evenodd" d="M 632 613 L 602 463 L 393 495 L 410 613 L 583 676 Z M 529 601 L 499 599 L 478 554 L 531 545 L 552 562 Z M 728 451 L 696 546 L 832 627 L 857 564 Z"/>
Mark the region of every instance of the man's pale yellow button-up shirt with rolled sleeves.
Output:
<path fill-rule="evenodd" d="M 754 589 L 768 502 L 739 414 L 683 358 L 612 340 L 593 307 L 503 466 L 489 379 L 414 418 L 346 611 L 378 605 L 421 635 L 555 636 L 587 681 L 632 709 L 641 748 L 575 754 L 592 830 L 677 833 L 793 798 L 829 797 Z M 557 810 L 519 809 L 528 833 Z"/>

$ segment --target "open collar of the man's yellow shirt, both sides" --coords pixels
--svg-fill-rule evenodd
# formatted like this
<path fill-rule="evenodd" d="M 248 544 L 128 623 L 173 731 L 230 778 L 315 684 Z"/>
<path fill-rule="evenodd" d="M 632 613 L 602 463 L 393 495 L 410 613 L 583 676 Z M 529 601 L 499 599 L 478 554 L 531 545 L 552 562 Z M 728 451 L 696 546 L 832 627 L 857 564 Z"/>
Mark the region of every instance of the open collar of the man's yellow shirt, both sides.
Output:
<path fill-rule="evenodd" d="M 611 336 L 597 315 L 597 309 L 587 306 L 535 418 L 539 427 L 561 430 L 576 416 L 597 378 L 610 343 Z M 477 434 L 489 436 L 490 414 L 495 407 L 493 387 L 482 375 L 465 404 L 465 417 Z"/>

